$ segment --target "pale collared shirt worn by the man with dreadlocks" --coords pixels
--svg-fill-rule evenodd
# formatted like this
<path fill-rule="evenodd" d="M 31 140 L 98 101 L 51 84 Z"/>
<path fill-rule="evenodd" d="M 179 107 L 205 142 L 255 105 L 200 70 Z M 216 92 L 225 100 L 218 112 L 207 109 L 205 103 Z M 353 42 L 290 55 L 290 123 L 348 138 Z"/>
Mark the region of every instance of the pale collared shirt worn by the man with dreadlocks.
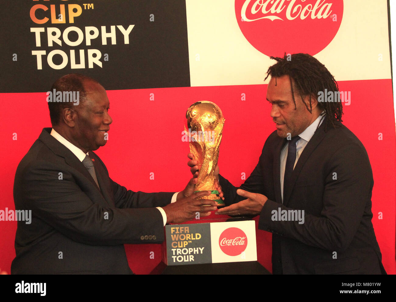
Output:
<path fill-rule="evenodd" d="M 322 111 L 322 114 L 323 113 L 324 111 Z M 300 139 L 297 141 L 296 144 L 296 160 L 294 162 L 293 169 L 296 166 L 301 153 L 303 153 L 305 146 L 307 146 L 309 140 L 314 135 L 316 129 L 322 124 L 323 118 L 324 115 L 318 116 L 318 118 L 314 120 L 314 122 L 312 122 L 312 124 L 310 124 L 307 127 L 307 129 L 305 129 L 301 134 L 298 135 Z M 285 144 L 285 146 L 282 148 L 282 151 L 280 152 L 280 192 L 282 194 L 282 203 L 283 203 L 283 181 L 285 178 L 287 152 L 289 150 L 288 146 L 289 144 Z"/>

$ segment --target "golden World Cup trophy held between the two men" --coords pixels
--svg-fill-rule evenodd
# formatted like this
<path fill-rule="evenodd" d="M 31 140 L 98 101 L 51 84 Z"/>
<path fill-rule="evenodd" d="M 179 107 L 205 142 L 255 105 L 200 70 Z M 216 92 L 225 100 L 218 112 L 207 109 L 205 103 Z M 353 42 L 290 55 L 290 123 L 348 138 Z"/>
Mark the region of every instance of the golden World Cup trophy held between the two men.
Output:
<path fill-rule="evenodd" d="M 199 175 L 195 192 L 210 190 L 204 199 L 215 200 L 224 206 L 219 192 L 214 186 L 214 171 L 219 159 L 219 149 L 225 119 L 219 106 L 209 101 L 199 101 L 187 109 L 187 129 L 190 152 L 198 161 Z"/>

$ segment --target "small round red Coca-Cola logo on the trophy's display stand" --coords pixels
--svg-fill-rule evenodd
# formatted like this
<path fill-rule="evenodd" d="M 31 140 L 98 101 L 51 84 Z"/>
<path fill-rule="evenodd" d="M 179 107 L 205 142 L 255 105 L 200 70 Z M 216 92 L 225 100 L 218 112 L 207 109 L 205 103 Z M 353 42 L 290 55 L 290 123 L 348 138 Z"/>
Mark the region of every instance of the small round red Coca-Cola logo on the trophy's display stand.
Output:
<path fill-rule="evenodd" d="M 247 237 L 239 228 L 228 228 L 219 237 L 219 246 L 229 256 L 241 255 L 247 247 Z"/>

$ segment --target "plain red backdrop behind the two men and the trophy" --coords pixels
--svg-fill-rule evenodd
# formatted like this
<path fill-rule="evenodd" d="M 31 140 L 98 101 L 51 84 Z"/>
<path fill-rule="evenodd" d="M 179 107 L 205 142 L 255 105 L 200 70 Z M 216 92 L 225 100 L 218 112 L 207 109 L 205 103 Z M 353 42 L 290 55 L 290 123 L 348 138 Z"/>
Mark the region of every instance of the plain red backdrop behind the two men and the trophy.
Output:
<path fill-rule="evenodd" d="M 103 83 L 105 85 L 105 83 Z M 395 154 L 396 137 L 391 80 L 340 81 L 340 91 L 351 91 L 344 106 L 344 124 L 362 141 L 374 176 L 373 225 L 388 274 L 396 273 L 395 262 Z M 181 87 L 108 91 L 110 100 L 109 141 L 96 153 L 110 177 L 131 190 L 180 191 L 190 179 L 188 143 L 181 141 L 185 112 L 195 101 L 219 105 L 225 116 L 219 166 L 223 176 L 239 185 L 253 171 L 263 144 L 275 130 L 267 85 Z M 154 93 L 154 101 L 150 101 Z M 241 100 L 245 93 L 246 100 Z M 19 161 L 50 127 L 45 93 L 0 94 L 3 141 L 0 209 L 15 209 L 13 179 Z M 17 140 L 13 140 L 17 133 Z M 382 133 L 382 140 L 379 140 Z M 150 173 L 154 180 L 150 180 Z M 345 202 L 348 202 L 347 200 Z M 379 219 L 379 212 L 383 218 Z M 213 214 L 211 215 L 212 218 Z M 217 216 L 216 216 L 217 218 Z M 256 217 L 257 222 L 257 217 Z M 10 274 L 17 223 L 0 222 L 0 271 Z M 125 245 L 129 266 L 136 274 L 148 274 L 161 261 L 160 245 Z M 154 251 L 154 259 L 150 252 Z M 259 262 L 271 270 L 271 234 L 257 230 Z"/>

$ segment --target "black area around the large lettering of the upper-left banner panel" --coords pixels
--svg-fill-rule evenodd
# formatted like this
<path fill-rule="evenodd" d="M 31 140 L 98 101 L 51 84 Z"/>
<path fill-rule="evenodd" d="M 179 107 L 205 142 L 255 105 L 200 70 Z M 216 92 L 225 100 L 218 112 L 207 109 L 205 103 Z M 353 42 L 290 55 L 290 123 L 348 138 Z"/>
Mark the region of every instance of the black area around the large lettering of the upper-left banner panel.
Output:
<path fill-rule="evenodd" d="M 0 47 L 1 78 L 0 92 L 44 92 L 61 76 L 69 73 L 86 74 L 104 83 L 105 89 L 139 89 L 162 87 L 190 86 L 190 70 L 188 63 L 187 21 L 184 1 L 150 1 L 150 0 L 118 0 L 118 1 L 14 1 L 1 0 L 2 21 L 0 40 L 5 42 Z M 84 9 L 83 3 L 93 3 L 94 9 Z M 43 4 L 47 11 L 38 9 L 36 17 L 49 17 L 44 24 L 36 24 L 30 19 L 30 8 L 35 4 Z M 60 13 L 60 4 L 65 5 L 66 23 L 52 24 L 50 4 L 55 4 L 55 12 Z M 82 13 L 69 23 L 68 4 L 79 4 Z M 150 21 L 154 14 L 154 21 Z M 134 24 L 129 34 L 129 44 L 124 44 L 124 35 L 116 27 L 116 43 L 102 45 L 101 26 L 105 25 L 110 32 L 110 25 L 122 25 L 125 29 Z M 68 46 L 63 42 L 63 30 L 76 26 L 84 33 L 84 40 L 78 46 Z M 99 36 L 86 46 L 85 26 L 95 26 Z M 57 27 L 61 30 L 62 46 L 53 43 L 48 47 L 47 30 L 42 32 L 41 47 L 36 47 L 35 33 L 30 27 Z M 69 34 L 71 41 L 77 35 Z M 68 65 L 59 70 L 48 66 L 47 55 L 53 49 L 61 49 L 69 57 Z M 75 49 L 76 63 L 80 63 L 79 49 L 85 51 L 86 68 L 70 68 L 70 49 Z M 99 49 L 102 53 L 102 66 L 94 64 L 88 68 L 87 49 Z M 32 50 L 45 50 L 42 56 L 42 70 L 37 70 L 36 55 Z M 13 53 L 17 61 L 13 61 Z M 109 54 L 109 61 L 104 61 L 104 54 Z M 59 59 L 59 61 L 56 61 Z M 61 63 L 61 56 L 55 55 L 55 64 Z M 7 72 L 4 72 L 7 70 Z"/>

